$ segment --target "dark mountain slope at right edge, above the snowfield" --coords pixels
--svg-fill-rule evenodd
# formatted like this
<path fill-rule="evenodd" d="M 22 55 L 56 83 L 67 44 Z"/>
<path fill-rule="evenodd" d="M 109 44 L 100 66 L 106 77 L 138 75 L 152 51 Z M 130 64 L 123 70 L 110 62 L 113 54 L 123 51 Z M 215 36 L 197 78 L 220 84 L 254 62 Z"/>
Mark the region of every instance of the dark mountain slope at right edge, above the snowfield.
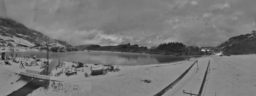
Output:
<path fill-rule="evenodd" d="M 223 51 L 227 54 L 256 54 L 256 31 L 251 34 L 239 35 L 229 38 L 215 48 L 215 51 Z"/>

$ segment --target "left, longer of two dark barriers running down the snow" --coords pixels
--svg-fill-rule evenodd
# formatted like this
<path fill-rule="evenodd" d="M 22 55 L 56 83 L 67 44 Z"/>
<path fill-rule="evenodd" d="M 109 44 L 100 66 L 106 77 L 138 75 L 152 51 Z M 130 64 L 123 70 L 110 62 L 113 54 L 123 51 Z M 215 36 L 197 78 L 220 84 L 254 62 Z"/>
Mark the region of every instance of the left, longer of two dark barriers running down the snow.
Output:
<path fill-rule="evenodd" d="M 178 83 L 188 72 L 189 70 L 192 68 L 192 66 L 197 63 L 197 60 L 189 67 L 188 70 L 186 70 L 179 78 L 177 78 L 173 83 L 171 83 L 170 85 L 168 85 L 167 87 L 165 87 L 162 91 L 158 92 L 157 94 L 153 95 L 153 96 L 161 96 L 163 95 L 165 92 L 167 92 L 169 89 L 171 89 L 176 83 Z"/>

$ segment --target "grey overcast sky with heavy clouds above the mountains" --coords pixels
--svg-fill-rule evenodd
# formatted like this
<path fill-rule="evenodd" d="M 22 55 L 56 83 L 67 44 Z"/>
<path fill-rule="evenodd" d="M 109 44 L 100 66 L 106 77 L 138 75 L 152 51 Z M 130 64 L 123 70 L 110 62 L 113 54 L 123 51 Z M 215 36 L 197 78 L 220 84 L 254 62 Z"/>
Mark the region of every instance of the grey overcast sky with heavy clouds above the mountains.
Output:
<path fill-rule="evenodd" d="M 256 0 L 0 0 L 9 18 L 73 46 L 217 46 L 255 30 Z"/>

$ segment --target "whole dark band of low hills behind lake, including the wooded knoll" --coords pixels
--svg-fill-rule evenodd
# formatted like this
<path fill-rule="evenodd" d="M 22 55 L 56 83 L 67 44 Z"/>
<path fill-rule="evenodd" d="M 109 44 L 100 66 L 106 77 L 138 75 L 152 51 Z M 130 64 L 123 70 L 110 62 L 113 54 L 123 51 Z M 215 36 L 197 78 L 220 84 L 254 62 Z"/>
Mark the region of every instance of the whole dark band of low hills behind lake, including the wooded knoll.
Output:
<path fill-rule="evenodd" d="M 84 48 L 85 50 L 96 51 L 116 51 L 116 52 L 129 52 L 129 53 L 146 53 L 146 54 L 159 54 L 159 55 L 188 55 L 188 49 L 190 49 L 190 55 L 200 55 L 199 47 L 185 46 L 182 43 L 163 43 L 155 49 L 148 49 L 147 47 L 139 47 L 134 44 L 121 44 L 117 46 L 100 46 L 91 45 Z"/>

